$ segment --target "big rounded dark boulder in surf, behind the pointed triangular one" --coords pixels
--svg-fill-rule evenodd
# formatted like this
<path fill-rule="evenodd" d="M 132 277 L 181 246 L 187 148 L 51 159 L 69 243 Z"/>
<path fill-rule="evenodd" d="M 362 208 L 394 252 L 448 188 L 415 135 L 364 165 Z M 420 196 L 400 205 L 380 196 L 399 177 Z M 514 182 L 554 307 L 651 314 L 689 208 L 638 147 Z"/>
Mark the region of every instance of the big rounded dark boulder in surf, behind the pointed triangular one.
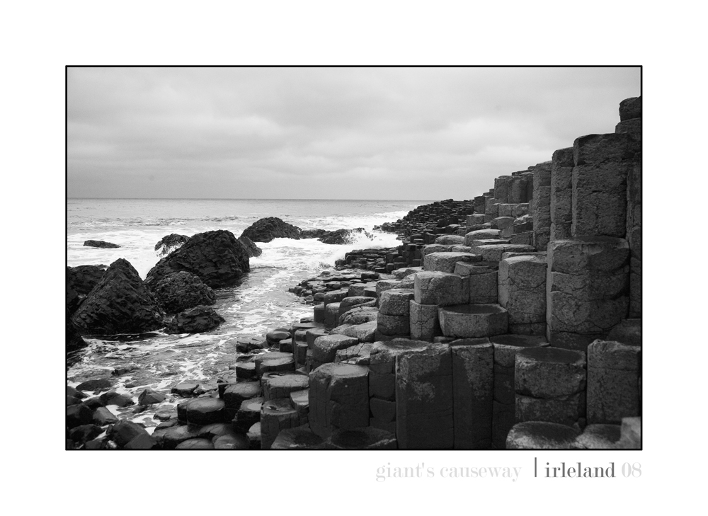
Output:
<path fill-rule="evenodd" d="M 250 269 L 246 246 L 231 231 L 219 229 L 195 234 L 181 248 L 162 258 L 145 278 L 156 287 L 160 280 L 183 270 L 212 288 L 230 287 Z"/>

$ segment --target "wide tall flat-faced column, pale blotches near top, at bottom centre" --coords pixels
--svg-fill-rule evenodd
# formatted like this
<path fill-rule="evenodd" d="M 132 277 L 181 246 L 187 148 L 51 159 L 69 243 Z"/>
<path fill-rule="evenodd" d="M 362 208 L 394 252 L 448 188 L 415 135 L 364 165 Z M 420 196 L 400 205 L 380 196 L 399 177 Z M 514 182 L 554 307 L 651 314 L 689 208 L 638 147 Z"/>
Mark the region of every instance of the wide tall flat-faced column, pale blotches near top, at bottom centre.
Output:
<path fill-rule="evenodd" d="M 396 357 L 396 438 L 400 449 L 450 449 L 452 355 L 450 346 L 428 345 Z"/>

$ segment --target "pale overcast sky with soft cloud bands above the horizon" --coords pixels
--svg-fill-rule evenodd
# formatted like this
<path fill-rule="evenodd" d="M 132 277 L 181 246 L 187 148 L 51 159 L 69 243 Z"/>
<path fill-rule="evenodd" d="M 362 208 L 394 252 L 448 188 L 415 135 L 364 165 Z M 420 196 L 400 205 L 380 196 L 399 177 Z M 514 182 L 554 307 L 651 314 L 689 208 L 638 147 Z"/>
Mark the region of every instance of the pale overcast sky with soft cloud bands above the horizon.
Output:
<path fill-rule="evenodd" d="M 67 195 L 469 199 L 639 94 L 639 68 L 70 68 Z"/>

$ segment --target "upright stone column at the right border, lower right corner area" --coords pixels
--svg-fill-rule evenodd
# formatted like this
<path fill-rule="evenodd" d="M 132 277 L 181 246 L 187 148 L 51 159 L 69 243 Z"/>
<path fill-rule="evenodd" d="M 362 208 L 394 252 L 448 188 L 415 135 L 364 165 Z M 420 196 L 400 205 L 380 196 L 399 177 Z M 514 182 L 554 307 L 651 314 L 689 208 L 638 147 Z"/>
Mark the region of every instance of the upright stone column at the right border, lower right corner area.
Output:
<path fill-rule="evenodd" d="M 641 348 L 595 340 L 588 346 L 588 423 L 640 415 Z"/>

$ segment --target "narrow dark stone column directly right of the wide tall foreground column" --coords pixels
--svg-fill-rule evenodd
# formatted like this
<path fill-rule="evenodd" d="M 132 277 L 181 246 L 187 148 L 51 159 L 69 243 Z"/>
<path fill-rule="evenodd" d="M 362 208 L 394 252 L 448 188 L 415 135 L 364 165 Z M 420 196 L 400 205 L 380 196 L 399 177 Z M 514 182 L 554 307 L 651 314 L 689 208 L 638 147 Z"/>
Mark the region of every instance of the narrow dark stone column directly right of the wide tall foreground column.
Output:
<path fill-rule="evenodd" d="M 489 338 L 455 340 L 452 399 L 455 449 L 489 449 L 494 398 L 494 348 Z"/>

